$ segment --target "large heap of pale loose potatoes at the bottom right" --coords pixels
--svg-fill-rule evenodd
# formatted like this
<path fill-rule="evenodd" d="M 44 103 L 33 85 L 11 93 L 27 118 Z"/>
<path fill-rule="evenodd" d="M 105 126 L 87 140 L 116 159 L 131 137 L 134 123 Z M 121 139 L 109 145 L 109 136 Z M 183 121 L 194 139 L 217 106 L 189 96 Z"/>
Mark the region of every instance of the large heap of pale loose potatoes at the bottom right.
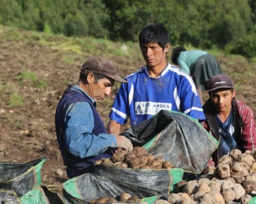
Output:
<path fill-rule="evenodd" d="M 212 179 L 201 178 L 198 181 L 183 181 L 183 192 L 171 193 L 168 202 L 173 204 L 229 204 L 248 203 L 256 191 L 256 149 L 239 149 L 222 156 L 217 166 L 208 166 L 206 174 L 213 174 Z M 166 202 L 166 201 L 162 201 Z M 157 203 L 154 203 L 157 204 Z M 158 203 L 159 204 L 159 203 Z"/>

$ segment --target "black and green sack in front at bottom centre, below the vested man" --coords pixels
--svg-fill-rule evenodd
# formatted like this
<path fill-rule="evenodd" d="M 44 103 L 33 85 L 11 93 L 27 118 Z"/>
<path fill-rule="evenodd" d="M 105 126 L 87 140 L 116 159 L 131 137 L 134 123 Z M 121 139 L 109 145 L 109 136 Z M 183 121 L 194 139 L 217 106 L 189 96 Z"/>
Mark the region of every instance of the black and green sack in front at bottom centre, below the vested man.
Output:
<path fill-rule="evenodd" d="M 122 193 L 130 193 L 139 198 L 138 202 L 153 203 L 161 194 L 154 190 L 140 188 L 137 185 L 107 179 L 94 174 L 82 174 L 62 184 L 63 197 L 70 203 L 90 203 L 92 199 L 101 197 L 116 198 Z M 112 202 L 115 203 L 115 202 Z M 121 202 L 117 202 L 121 203 Z"/>

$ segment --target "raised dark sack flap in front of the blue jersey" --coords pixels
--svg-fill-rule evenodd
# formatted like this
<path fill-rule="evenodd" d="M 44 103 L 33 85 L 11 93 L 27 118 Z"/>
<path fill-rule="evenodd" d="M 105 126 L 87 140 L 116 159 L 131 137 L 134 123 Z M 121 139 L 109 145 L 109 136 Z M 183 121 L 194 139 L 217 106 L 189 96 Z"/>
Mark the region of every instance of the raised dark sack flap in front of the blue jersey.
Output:
<path fill-rule="evenodd" d="M 170 161 L 175 168 L 194 174 L 203 172 L 219 146 L 195 118 L 175 111 L 159 111 L 121 135 L 134 146 L 143 146 L 155 157 Z"/>

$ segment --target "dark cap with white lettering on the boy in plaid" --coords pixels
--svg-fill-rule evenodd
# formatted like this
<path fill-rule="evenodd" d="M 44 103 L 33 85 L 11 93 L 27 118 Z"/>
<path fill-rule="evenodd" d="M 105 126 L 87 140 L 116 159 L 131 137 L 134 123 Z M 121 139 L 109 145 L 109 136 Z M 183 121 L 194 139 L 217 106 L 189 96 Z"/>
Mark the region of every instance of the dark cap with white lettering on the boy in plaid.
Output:
<path fill-rule="evenodd" d="M 206 89 L 209 92 L 223 88 L 234 89 L 234 84 L 228 75 L 218 74 L 211 77 L 209 81 L 206 82 Z"/>

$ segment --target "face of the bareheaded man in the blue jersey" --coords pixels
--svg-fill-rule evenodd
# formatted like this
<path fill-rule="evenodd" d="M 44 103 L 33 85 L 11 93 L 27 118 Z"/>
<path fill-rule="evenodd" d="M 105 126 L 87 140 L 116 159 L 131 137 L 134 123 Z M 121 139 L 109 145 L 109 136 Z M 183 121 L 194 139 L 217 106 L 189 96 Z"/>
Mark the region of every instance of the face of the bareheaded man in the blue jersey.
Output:
<path fill-rule="evenodd" d="M 141 46 L 141 52 L 149 67 L 165 65 L 166 53 L 170 48 L 170 44 L 166 44 L 164 50 L 157 43 L 148 43 Z"/>

